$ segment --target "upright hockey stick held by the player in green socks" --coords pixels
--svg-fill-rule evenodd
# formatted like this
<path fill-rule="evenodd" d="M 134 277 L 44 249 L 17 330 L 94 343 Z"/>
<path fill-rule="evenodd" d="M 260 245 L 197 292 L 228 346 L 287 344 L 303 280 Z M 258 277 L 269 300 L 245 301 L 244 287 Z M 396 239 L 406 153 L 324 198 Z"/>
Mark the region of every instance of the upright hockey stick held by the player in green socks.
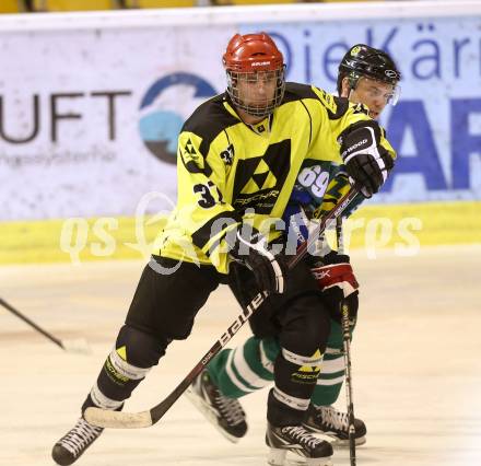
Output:
<path fill-rule="evenodd" d="M 342 236 L 342 218 L 338 217 L 336 222 L 336 236 L 338 240 L 338 253 L 343 254 L 344 243 Z M 342 346 L 344 350 L 345 368 L 345 399 L 348 404 L 349 422 L 349 458 L 351 466 L 355 466 L 355 427 L 354 427 L 354 403 L 352 399 L 352 370 L 351 370 L 351 333 L 349 328 L 349 306 L 345 300 L 341 300 L 340 311 L 342 316 Z"/>

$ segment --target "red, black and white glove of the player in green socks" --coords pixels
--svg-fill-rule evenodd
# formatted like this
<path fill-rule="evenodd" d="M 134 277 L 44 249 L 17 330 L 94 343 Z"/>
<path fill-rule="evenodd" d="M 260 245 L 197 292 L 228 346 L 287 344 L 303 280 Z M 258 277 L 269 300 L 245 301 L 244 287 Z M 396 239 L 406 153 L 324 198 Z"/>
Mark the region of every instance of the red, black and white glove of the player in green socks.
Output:
<path fill-rule="evenodd" d="M 349 317 L 357 316 L 357 289 L 359 283 L 349 264 L 349 256 L 335 251 L 321 258 L 321 263 L 310 269 L 322 291 L 322 299 L 328 305 L 331 317 L 341 322 L 341 301 L 344 300 L 349 307 Z"/>

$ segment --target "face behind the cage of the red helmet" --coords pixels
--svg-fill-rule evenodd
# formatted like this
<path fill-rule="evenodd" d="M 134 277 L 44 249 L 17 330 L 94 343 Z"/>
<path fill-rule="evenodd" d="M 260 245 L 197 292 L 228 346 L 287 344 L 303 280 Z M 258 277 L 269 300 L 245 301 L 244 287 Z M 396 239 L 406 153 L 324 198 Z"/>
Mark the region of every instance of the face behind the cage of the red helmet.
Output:
<path fill-rule="evenodd" d="M 239 73 L 237 86 L 243 104 L 253 108 L 266 108 L 266 106 L 272 105 L 278 78 L 277 71 Z"/>

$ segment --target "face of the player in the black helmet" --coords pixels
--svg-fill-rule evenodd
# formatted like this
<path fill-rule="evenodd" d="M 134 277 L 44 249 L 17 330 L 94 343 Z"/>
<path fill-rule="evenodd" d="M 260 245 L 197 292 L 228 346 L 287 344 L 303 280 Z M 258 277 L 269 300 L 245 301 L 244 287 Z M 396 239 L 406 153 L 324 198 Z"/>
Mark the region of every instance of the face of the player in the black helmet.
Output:
<path fill-rule="evenodd" d="M 344 95 L 345 86 L 345 95 Z M 349 92 L 348 80 L 342 82 L 342 96 L 349 97 L 354 104 L 364 104 L 369 108 L 371 118 L 379 118 L 384 107 L 392 100 L 395 86 L 369 78 L 362 77 L 354 90 Z"/>

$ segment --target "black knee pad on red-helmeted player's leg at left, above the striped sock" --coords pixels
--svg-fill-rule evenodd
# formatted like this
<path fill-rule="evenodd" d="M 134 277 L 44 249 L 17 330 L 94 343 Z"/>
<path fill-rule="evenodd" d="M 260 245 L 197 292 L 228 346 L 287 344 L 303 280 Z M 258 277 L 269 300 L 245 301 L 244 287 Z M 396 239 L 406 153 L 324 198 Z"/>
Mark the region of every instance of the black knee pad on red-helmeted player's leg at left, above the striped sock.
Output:
<path fill-rule="evenodd" d="M 136 368 L 152 368 L 165 354 L 165 350 L 172 340 L 161 340 L 145 331 L 125 325 L 115 343 L 117 351 L 124 351 L 125 360 Z"/>

